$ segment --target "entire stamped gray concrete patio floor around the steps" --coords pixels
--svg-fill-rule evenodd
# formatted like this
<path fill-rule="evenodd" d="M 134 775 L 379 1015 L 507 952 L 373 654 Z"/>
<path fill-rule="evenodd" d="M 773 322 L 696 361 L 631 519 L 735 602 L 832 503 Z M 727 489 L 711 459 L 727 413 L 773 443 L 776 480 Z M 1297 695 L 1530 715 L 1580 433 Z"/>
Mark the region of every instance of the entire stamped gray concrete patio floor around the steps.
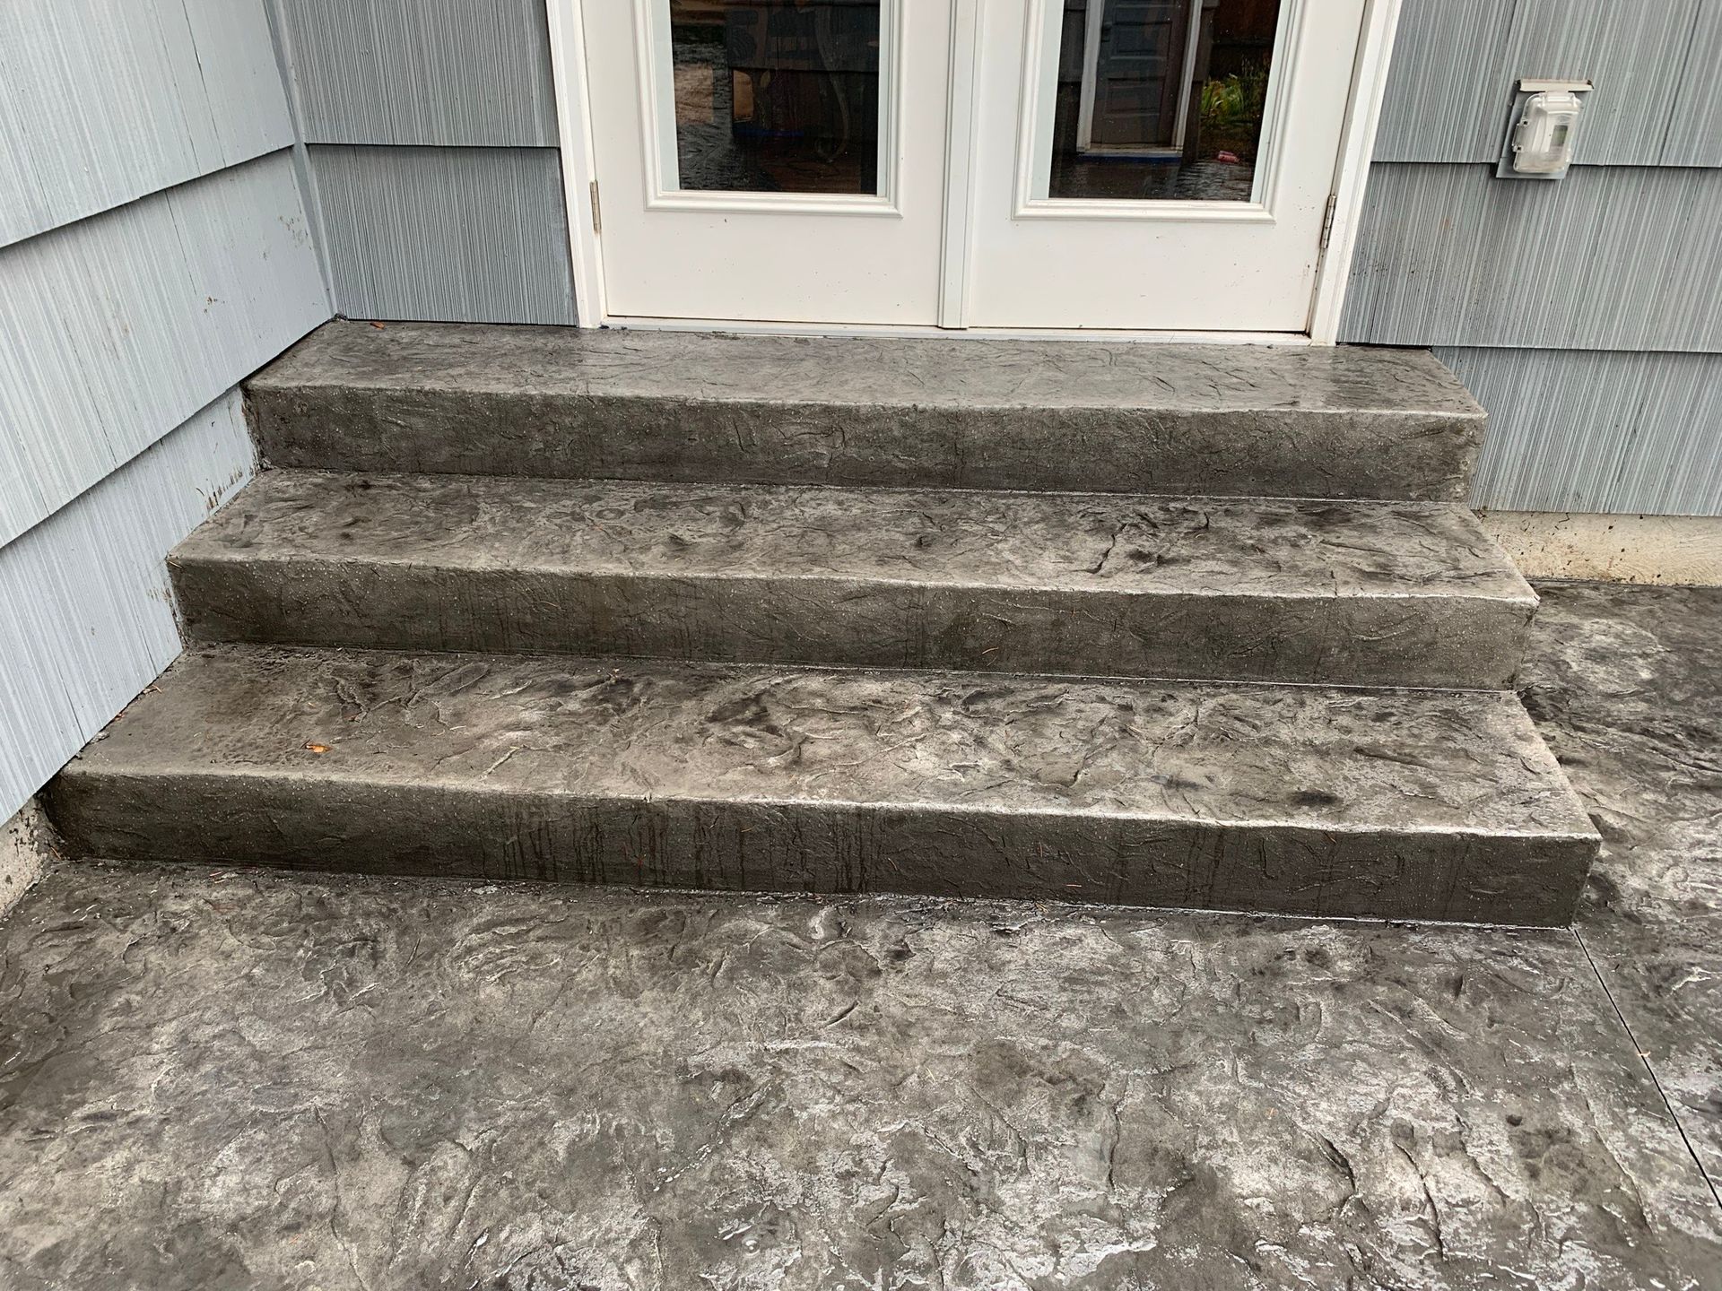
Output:
<path fill-rule="evenodd" d="M 1722 1288 L 1722 592 L 1545 596 L 1577 933 L 59 866 L 0 1286 Z"/>

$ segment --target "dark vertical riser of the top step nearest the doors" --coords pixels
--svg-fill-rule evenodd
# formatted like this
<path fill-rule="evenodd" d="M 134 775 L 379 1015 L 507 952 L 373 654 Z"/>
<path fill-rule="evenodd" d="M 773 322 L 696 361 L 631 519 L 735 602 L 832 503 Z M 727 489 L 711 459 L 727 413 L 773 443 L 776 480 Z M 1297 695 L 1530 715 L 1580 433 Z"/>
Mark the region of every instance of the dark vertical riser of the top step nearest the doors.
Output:
<path fill-rule="evenodd" d="M 1483 420 L 1398 411 L 587 399 L 251 387 L 276 466 L 684 484 L 1462 501 Z"/>

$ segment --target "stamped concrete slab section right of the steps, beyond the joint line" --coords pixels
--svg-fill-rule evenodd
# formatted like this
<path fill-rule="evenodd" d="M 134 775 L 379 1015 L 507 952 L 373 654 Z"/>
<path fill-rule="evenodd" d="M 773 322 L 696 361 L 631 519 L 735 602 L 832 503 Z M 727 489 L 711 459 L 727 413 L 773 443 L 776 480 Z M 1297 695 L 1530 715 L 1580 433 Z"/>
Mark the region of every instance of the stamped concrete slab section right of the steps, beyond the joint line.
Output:
<path fill-rule="evenodd" d="M 1722 1184 L 1722 589 L 1543 597 L 1521 692 L 1603 835 L 1576 928 Z"/>

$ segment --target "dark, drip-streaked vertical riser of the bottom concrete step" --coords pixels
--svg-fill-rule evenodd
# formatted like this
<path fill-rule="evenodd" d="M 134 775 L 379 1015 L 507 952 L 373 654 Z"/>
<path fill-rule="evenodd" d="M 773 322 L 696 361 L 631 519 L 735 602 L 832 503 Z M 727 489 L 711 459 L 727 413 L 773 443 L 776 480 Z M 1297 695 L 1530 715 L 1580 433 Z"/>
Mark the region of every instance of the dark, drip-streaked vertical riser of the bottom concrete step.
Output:
<path fill-rule="evenodd" d="M 55 783 L 52 811 L 74 849 L 114 859 L 1536 926 L 1570 919 L 1591 859 L 1581 840 L 592 802 L 305 776 L 71 773 Z"/>

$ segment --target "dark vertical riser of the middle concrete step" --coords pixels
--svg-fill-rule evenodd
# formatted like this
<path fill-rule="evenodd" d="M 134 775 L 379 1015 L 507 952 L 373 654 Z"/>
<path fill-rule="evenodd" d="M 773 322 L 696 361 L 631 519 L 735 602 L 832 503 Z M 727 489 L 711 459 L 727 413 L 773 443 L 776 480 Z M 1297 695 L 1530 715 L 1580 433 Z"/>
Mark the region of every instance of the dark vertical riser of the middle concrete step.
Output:
<path fill-rule="evenodd" d="M 334 561 L 172 565 L 198 640 L 740 663 L 1495 689 L 1531 608 L 641 578 Z"/>

